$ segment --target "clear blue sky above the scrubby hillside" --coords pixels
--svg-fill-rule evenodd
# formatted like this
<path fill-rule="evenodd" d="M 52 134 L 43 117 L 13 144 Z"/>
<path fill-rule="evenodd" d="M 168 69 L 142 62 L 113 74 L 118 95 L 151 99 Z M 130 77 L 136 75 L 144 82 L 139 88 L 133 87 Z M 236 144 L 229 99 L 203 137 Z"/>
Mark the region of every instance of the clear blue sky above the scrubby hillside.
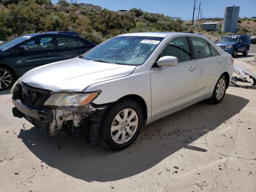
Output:
<path fill-rule="evenodd" d="M 71 3 L 71 0 L 66 1 Z M 54 4 L 57 2 L 58 0 L 52 0 Z M 162 13 L 183 20 L 192 19 L 194 6 L 194 0 L 76 0 L 76 2 L 99 5 L 113 11 L 141 8 L 147 12 Z M 196 8 L 199 7 L 200 2 L 204 18 L 223 18 L 225 7 L 234 4 L 240 6 L 239 16 L 241 18 L 256 16 L 256 0 L 196 0 Z M 195 18 L 198 16 L 198 10 L 195 10 Z"/>

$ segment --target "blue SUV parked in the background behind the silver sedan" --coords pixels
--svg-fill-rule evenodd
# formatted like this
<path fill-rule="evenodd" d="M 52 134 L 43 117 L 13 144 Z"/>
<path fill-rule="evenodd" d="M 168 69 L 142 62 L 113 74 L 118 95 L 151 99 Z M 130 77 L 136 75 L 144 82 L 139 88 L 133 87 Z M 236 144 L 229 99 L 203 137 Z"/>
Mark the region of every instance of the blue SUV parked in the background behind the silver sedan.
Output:
<path fill-rule="evenodd" d="M 216 44 L 224 51 L 232 54 L 233 57 L 237 53 L 242 53 L 245 56 L 250 48 L 250 39 L 247 35 L 230 35 L 222 37 Z"/>

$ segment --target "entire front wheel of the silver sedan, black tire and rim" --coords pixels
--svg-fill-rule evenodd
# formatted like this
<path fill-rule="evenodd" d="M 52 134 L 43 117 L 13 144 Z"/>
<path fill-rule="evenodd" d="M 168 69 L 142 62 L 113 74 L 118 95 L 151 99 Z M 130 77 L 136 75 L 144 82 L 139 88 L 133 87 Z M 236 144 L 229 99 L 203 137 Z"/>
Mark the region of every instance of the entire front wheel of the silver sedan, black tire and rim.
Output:
<path fill-rule="evenodd" d="M 124 117 L 126 113 L 127 118 Z M 133 118 L 129 120 L 131 115 Z M 129 98 L 122 99 L 106 111 L 99 130 L 100 143 L 108 150 L 123 150 L 136 140 L 142 124 L 143 112 L 140 105 Z"/>

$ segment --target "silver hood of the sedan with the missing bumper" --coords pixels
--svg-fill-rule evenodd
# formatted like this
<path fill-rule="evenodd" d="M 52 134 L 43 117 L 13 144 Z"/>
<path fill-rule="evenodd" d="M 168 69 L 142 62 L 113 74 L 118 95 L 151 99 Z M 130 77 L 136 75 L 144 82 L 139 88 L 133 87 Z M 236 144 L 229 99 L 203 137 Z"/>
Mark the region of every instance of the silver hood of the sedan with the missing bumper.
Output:
<path fill-rule="evenodd" d="M 37 88 L 80 92 L 86 87 L 130 75 L 136 66 L 109 64 L 73 58 L 34 68 L 21 81 Z"/>

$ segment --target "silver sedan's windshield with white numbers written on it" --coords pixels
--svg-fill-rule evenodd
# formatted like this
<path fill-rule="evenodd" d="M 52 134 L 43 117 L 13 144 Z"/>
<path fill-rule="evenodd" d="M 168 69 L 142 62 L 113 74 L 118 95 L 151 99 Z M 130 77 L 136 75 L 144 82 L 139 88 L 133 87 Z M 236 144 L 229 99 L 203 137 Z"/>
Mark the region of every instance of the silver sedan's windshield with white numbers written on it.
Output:
<path fill-rule="evenodd" d="M 147 36 L 116 36 L 86 53 L 83 58 L 114 64 L 141 65 L 163 39 Z"/>

